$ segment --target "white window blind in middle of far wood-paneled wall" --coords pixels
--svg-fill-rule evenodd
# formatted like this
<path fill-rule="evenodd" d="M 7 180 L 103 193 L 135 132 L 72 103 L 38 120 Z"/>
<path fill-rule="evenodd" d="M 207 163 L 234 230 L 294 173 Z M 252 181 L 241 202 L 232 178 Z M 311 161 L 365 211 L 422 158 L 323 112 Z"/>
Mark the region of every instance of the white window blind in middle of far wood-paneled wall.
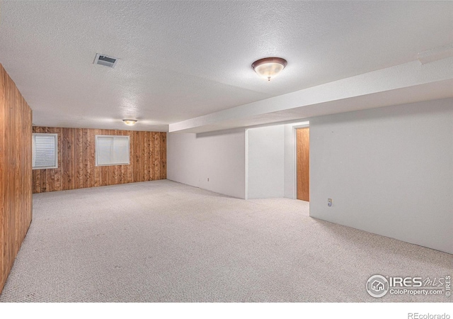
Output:
<path fill-rule="evenodd" d="M 96 166 L 129 163 L 129 136 L 96 135 Z"/>

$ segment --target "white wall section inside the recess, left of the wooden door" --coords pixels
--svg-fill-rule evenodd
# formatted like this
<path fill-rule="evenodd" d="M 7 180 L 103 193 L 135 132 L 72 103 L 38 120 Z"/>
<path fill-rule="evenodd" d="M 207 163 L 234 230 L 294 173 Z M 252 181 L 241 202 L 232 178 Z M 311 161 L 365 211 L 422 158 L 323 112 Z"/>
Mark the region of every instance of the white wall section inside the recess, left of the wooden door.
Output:
<path fill-rule="evenodd" d="M 248 199 L 283 197 L 284 125 L 250 128 L 248 140 Z"/>

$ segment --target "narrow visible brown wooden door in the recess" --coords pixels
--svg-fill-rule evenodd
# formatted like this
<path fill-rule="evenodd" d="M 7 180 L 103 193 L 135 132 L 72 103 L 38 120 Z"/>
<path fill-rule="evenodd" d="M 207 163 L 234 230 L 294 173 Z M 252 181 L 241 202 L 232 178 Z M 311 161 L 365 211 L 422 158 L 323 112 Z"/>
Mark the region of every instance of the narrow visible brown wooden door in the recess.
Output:
<path fill-rule="evenodd" d="M 297 199 L 310 201 L 310 128 L 297 128 Z"/>

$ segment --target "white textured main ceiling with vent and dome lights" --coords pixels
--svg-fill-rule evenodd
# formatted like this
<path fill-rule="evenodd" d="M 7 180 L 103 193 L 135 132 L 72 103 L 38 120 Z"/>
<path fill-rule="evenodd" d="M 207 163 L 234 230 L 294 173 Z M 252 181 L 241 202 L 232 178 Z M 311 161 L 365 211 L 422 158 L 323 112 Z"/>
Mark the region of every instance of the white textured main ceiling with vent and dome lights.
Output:
<path fill-rule="evenodd" d="M 1 1 L 0 63 L 36 125 L 168 124 L 417 60 L 453 2 Z M 96 53 L 120 58 L 93 65 Z M 261 57 L 288 61 L 266 82 Z"/>

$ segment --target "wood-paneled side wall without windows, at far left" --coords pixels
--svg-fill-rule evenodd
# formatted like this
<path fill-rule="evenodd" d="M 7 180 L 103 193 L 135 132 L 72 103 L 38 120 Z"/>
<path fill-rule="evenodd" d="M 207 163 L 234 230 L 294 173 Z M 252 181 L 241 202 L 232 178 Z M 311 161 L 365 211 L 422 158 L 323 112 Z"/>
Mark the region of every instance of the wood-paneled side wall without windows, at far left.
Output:
<path fill-rule="evenodd" d="M 0 293 L 32 219 L 32 113 L 0 65 Z"/>

